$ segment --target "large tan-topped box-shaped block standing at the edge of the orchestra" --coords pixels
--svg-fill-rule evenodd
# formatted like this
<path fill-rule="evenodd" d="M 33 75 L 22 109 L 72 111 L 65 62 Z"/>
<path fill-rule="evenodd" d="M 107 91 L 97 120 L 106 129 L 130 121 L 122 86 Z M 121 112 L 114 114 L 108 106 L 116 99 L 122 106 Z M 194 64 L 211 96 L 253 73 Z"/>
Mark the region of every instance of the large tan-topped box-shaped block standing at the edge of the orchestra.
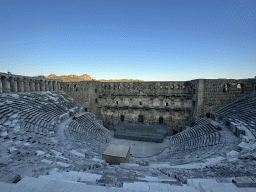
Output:
<path fill-rule="evenodd" d="M 102 159 L 107 163 L 111 164 L 120 164 L 120 163 L 129 163 L 130 162 L 130 147 L 109 144 L 107 149 L 102 154 Z"/>

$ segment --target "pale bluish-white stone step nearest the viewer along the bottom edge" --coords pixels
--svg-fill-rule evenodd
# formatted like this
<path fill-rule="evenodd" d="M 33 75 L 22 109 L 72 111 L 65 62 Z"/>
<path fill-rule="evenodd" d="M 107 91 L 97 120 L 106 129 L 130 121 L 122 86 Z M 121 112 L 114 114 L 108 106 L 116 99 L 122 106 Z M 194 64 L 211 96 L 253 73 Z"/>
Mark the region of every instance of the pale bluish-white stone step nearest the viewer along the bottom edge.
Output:
<path fill-rule="evenodd" d="M 145 182 L 134 182 L 124 183 L 123 188 L 116 187 L 104 187 L 96 185 L 87 185 L 85 183 L 79 183 L 68 180 L 57 180 L 50 177 L 25 177 L 17 184 L 9 184 L 0 182 L 0 189 L 5 192 L 13 191 L 65 191 L 65 192 L 134 192 L 134 191 L 150 191 L 150 192 L 169 192 L 169 191 L 181 191 L 181 192 L 195 192 L 196 190 L 187 185 L 182 186 L 171 186 L 163 183 L 145 183 Z"/>

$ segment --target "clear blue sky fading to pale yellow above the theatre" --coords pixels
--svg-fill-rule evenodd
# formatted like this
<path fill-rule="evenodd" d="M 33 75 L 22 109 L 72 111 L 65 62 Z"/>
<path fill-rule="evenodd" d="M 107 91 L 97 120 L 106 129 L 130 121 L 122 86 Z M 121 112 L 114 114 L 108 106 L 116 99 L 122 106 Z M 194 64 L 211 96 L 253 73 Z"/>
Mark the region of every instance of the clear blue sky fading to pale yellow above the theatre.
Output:
<path fill-rule="evenodd" d="M 254 78 L 255 9 L 249 0 L 0 0 L 0 72 Z"/>

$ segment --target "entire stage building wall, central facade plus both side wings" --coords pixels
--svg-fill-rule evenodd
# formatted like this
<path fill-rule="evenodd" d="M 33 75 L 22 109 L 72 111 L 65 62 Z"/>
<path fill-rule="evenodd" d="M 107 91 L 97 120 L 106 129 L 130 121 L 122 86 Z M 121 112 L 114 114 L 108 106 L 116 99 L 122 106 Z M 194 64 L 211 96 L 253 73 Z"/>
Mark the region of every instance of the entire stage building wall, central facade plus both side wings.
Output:
<path fill-rule="evenodd" d="M 142 121 L 148 125 L 162 122 L 170 131 L 181 130 L 183 125 L 190 125 L 255 91 L 255 80 L 196 79 L 132 83 L 81 81 L 62 82 L 61 87 L 87 111 L 94 113 L 98 120 L 103 120 L 104 125 L 116 126 L 120 121 Z"/>

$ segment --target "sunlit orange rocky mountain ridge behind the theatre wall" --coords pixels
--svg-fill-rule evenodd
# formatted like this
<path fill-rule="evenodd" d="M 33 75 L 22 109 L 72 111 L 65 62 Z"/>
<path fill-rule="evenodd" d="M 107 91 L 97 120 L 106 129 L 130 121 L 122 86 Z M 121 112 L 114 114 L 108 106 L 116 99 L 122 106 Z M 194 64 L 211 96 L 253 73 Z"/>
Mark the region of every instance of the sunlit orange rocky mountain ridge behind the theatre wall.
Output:
<path fill-rule="evenodd" d="M 38 76 L 34 76 L 38 77 Z M 63 82 L 80 82 L 80 81 L 99 81 L 99 82 L 144 82 L 143 80 L 133 80 L 133 79 L 121 79 L 121 80 L 96 80 L 92 79 L 90 75 L 83 74 L 81 76 L 77 75 L 61 75 L 57 76 L 55 74 L 50 74 L 48 76 L 45 76 L 48 79 L 60 79 Z"/>

